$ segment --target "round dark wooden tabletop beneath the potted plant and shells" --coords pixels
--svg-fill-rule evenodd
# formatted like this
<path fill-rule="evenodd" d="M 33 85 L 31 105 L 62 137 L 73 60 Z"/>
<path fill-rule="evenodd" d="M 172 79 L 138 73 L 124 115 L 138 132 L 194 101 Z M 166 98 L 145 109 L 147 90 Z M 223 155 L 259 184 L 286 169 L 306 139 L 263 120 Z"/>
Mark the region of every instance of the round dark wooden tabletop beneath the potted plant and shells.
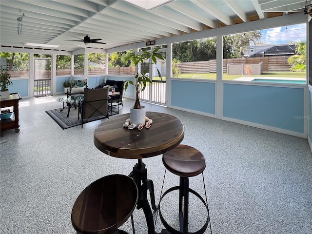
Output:
<path fill-rule="evenodd" d="M 104 121 L 94 132 L 94 144 L 103 153 L 121 158 L 145 158 L 175 148 L 184 137 L 182 122 L 172 115 L 146 112 L 153 120 L 150 128 L 124 128 L 130 113 Z"/>

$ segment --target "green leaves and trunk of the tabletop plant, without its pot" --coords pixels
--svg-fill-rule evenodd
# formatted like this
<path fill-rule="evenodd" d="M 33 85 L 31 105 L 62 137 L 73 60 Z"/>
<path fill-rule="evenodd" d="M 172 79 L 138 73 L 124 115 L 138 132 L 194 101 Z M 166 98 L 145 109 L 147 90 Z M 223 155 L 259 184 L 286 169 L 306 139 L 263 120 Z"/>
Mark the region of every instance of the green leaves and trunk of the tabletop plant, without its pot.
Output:
<path fill-rule="evenodd" d="M 158 50 L 159 50 L 159 48 L 156 48 L 152 52 L 142 51 L 142 54 L 138 54 L 138 55 L 132 54 L 132 55 L 126 57 L 125 60 L 132 60 L 133 64 L 135 66 L 137 66 L 139 63 L 144 63 L 144 61 L 146 61 L 147 59 L 152 58 L 153 62 L 155 64 L 157 64 L 157 61 L 156 61 L 157 58 L 161 59 L 161 60 L 165 60 L 161 56 L 161 54 L 159 54 L 159 53 L 157 54 Z M 161 79 L 161 74 L 160 74 L 158 68 L 157 68 L 157 73 Z M 152 83 L 152 80 L 149 78 L 149 75 L 147 75 L 147 72 L 144 69 L 144 71 L 138 72 L 137 75 L 135 76 L 135 83 L 130 79 L 126 80 L 124 82 L 125 90 L 127 90 L 129 83 L 132 85 L 135 85 L 135 87 L 136 87 L 137 94 L 136 94 L 136 102 L 135 102 L 134 108 L 140 109 L 141 105 L 140 105 L 140 100 L 139 100 L 139 93 L 144 91 L 147 84 Z"/>

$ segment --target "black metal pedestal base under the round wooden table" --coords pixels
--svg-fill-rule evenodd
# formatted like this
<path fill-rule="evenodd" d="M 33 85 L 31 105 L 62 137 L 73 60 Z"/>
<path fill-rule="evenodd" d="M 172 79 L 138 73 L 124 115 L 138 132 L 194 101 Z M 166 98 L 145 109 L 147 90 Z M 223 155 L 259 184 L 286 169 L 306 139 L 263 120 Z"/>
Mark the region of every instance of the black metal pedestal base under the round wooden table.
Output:
<path fill-rule="evenodd" d="M 154 219 L 150 204 L 147 199 L 147 191 L 150 191 L 151 205 L 154 211 L 157 210 L 155 203 L 154 183 L 147 178 L 147 169 L 142 159 L 138 159 L 138 163 L 133 167 L 133 171 L 129 175 L 137 184 L 138 201 L 137 209 L 142 209 L 147 222 L 148 234 L 155 234 Z"/>

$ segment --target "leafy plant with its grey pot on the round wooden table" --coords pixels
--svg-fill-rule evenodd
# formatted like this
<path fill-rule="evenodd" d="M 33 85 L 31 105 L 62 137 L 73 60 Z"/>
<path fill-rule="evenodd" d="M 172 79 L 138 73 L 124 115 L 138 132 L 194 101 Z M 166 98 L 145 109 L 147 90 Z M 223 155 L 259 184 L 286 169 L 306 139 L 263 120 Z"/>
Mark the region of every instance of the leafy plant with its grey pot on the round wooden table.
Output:
<path fill-rule="evenodd" d="M 128 57 L 126 57 L 125 60 L 131 60 L 132 63 L 137 66 L 139 63 L 144 63 L 146 60 L 152 58 L 153 62 L 157 64 L 157 58 L 161 60 L 165 60 L 161 54 L 157 53 L 159 48 L 156 48 L 155 50 L 149 52 L 149 51 L 142 51 L 142 54 L 132 54 Z M 145 123 L 145 107 L 141 106 L 140 99 L 139 99 L 139 93 L 144 91 L 148 85 L 148 83 L 152 84 L 152 80 L 149 78 L 149 72 L 147 72 L 145 69 L 144 71 L 137 72 L 135 76 L 135 82 L 132 80 L 126 80 L 124 82 L 125 90 L 127 90 L 129 83 L 132 85 L 135 85 L 136 88 L 136 102 L 135 105 L 130 109 L 130 119 L 131 123 L 134 123 L 138 126 L 138 124 Z M 157 68 L 158 76 L 161 79 L 161 74 Z"/>

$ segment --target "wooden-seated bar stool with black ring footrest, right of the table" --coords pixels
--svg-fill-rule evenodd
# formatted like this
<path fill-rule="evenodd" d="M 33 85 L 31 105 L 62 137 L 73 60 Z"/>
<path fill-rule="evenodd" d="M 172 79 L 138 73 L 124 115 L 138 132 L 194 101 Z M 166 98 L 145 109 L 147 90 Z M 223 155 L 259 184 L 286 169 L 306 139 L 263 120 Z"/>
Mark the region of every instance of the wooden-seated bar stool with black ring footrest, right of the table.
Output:
<path fill-rule="evenodd" d="M 171 234 L 189 234 L 189 193 L 196 195 L 201 202 L 204 204 L 205 208 L 207 209 L 207 219 L 205 224 L 201 229 L 195 232 L 195 234 L 203 234 L 208 224 L 210 224 L 210 216 L 209 216 L 209 209 L 207 203 L 207 194 L 206 194 L 206 187 L 205 181 L 203 176 L 203 183 L 205 189 L 205 196 L 206 201 L 193 189 L 189 188 L 189 177 L 197 176 L 199 174 L 203 175 L 203 171 L 206 167 L 206 160 L 205 157 L 195 148 L 188 146 L 188 145 L 178 145 L 173 150 L 163 154 L 162 161 L 166 170 L 180 176 L 180 184 L 179 186 L 172 187 L 168 189 L 164 194 L 161 196 L 158 205 L 159 217 L 161 219 L 162 224 L 166 228 L 168 232 Z M 166 172 L 165 172 L 166 173 Z M 165 179 L 165 178 L 164 178 Z M 179 190 L 179 223 L 180 223 L 180 231 L 177 231 L 173 227 L 171 227 L 164 219 L 163 215 L 161 214 L 160 203 L 162 198 L 167 195 L 168 193 Z M 184 199 L 183 199 L 184 198 Z M 211 231 L 211 224 L 210 224 L 210 231 Z M 212 231 L 211 231 L 212 233 Z"/>

